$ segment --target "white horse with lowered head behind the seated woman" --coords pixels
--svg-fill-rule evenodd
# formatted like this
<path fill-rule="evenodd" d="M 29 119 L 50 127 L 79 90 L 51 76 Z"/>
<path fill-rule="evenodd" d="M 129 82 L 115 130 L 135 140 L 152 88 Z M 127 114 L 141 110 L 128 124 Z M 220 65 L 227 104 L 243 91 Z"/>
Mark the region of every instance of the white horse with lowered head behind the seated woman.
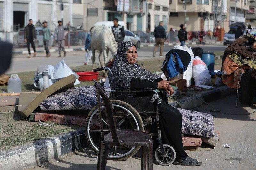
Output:
<path fill-rule="evenodd" d="M 95 26 L 91 31 L 91 48 L 92 48 L 92 69 L 94 69 L 95 63 L 95 50 L 103 53 L 104 64 L 102 64 L 100 55 L 100 66 L 105 67 L 108 63 L 108 51 L 111 52 L 113 58 L 116 56 L 117 52 L 117 42 L 110 28 L 107 26 Z"/>

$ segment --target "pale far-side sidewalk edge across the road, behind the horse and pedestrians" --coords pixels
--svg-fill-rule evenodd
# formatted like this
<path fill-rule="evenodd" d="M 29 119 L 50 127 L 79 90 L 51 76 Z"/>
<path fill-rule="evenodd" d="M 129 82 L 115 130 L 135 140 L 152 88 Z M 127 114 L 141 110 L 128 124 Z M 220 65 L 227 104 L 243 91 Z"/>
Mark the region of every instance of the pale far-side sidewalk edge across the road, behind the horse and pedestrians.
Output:
<path fill-rule="evenodd" d="M 187 43 L 188 45 L 195 45 L 196 44 L 196 41 L 189 41 Z M 223 44 L 222 41 L 206 41 L 206 44 Z M 180 45 L 180 42 L 165 42 L 164 43 L 165 46 L 175 46 L 175 45 Z M 141 42 L 140 44 L 140 47 L 143 48 L 143 47 L 154 47 L 155 46 L 155 42 L 151 42 L 151 43 L 143 43 Z M 65 47 L 65 50 L 67 52 L 71 52 L 71 51 L 85 51 L 84 50 L 84 46 L 70 46 L 69 48 L 66 46 Z M 51 49 L 49 49 L 50 53 L 55 53 L 55 52 L 58 52 L 58 47 L 52 47 Z M 34 53 L 33 50 L 30 50 L 31 54 Z M 36 48 L 36 52 L 39 52 L 39 53 L 42 53 L 44 52 L 45 53 L 45 50 L 44 50 L 44 47 L 38 47 Z M 14 48 L 13 49 L 13 54 L 28 54 L 28 49 L 27 48 Z"/>

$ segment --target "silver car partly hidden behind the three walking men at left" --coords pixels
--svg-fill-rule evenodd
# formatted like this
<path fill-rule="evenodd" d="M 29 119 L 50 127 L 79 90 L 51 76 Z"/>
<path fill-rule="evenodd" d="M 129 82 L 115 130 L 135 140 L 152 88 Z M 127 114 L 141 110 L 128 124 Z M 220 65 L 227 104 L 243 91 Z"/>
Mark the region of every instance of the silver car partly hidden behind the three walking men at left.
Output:
<path fill-rule="evenodd" d="M 42 27 L 36 27 L 36 39 L 37 42 L 35 42 L 36 48 L 41 46 L 44 46 L 44 33 L 42 30 Z M 20 28 L 18 30 L 18 39 L 17 39 L 17 44 L 19 47 L 26 47 L 26 42 L 24 41 L 24 28 Z M 51 35 L 51 38 L 49 40 L 49 46 L 52 46 L 56 43 L 53 43 L 53 35 Z"/>

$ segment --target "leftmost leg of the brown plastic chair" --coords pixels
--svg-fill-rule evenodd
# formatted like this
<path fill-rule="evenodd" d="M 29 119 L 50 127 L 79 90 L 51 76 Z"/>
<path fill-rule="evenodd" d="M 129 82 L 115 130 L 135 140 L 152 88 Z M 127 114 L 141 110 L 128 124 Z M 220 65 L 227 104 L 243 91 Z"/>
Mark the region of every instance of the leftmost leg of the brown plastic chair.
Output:
<path fill-rule="evenodd" d="M 97 170 L 105 170 L 108 160 L 109 144 L 104 144 L 101 141 L 98 154 Z"/>

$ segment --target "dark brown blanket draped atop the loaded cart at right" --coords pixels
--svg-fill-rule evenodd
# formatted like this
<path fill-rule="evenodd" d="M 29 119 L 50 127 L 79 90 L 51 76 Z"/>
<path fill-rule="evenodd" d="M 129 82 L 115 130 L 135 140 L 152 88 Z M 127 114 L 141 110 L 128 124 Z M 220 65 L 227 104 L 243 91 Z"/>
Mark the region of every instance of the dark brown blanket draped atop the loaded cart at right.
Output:
<path fill-rule="evenodd" d="M 233 44 L 230 44 L 226 50 L 224 51 L 223 58 L 222 58 L 222 68 L 223 70 L 223 63 L 226 57 L 231 53 L 237 53 L 237 55 L 242 55 L 244 57 L 255 58 L 255 55 L 252 55 L 254 50 L 251 47 L 245 47 L 244 43 L 247 41 L 256 41 L 256 39 L 250 35 L 244 35 L 242 38 L 238 38 Z"/>

